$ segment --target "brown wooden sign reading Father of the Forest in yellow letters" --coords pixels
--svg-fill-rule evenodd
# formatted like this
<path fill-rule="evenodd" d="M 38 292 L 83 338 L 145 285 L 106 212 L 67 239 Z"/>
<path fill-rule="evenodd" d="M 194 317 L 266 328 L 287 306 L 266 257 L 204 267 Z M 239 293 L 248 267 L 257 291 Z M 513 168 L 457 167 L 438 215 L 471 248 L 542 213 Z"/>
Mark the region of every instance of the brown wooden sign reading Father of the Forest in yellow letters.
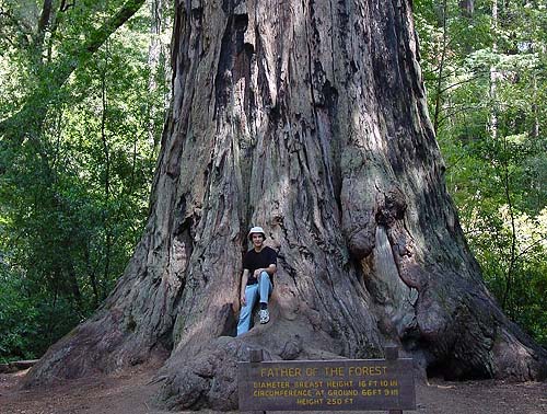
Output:
<path fill-rule="evenodd" d="M 412 359 L 238 363 L 241 411 L 416 410 Z"/>

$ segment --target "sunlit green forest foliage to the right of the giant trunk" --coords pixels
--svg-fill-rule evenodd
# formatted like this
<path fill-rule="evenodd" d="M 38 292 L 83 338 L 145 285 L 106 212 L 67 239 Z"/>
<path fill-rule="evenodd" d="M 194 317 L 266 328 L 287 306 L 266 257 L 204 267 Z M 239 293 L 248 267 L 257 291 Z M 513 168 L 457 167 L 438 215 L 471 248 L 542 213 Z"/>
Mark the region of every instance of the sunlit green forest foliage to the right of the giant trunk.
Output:
<path fill-rule="evenodd" d="M 547 8 L 416 1 L 446 181 L 485 281 L 547 345 Z"/>

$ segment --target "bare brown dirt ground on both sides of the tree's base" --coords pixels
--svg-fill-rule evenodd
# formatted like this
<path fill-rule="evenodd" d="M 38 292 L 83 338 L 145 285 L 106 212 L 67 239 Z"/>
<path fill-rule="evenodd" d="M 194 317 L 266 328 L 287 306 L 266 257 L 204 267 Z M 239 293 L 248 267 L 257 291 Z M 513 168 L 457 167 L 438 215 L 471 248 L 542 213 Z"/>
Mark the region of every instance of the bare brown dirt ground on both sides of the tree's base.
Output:
<path fill-rule="evenodd" d="M 25 371 L 0 375 L 1 414 L 165 414 L 150 404 L 159 388 L 151 381 L 152 370 L 140 368 L 113 377 L 85 378 L 30 391 L 19 389 L 24 375 Z M 417 384 L 416 400 L 417 413 L 546 414 L 547 382 L 445 382 L 435 379 Z"/>

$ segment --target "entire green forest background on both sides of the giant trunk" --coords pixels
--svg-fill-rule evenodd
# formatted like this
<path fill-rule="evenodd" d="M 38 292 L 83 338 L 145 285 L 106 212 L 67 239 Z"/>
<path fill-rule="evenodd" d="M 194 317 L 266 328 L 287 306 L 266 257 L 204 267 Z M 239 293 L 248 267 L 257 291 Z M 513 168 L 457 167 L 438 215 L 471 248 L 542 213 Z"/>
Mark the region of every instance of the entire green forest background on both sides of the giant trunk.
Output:
<path fill-rule="evenodd" d="M 91 315 L 148 216 L 167 0 L 0 0 L 0 363 Z M 415 0 L 445 177 L 486 284 L 547 346 L 547 7 Z"/>

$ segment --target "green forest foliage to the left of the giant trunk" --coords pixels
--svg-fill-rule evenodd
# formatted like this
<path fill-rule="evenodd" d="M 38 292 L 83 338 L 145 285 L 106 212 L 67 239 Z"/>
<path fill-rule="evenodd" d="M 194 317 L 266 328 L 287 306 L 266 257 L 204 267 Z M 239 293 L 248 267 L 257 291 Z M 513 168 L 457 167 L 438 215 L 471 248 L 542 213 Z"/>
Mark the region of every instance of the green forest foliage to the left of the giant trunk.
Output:
<path fill-rule="evenodd" d="M 0 42 L 0 357 L 26 358 L 89 317 L 124 272 L 147 218 L 167 85 L 149 62 L 148 8 L 81 60 L 124 1 L 55 10 L 43 42 L 43 2 L 0 1 L 19 31 Z M 54 69 L 71 74 L 59 84 Z"/>

